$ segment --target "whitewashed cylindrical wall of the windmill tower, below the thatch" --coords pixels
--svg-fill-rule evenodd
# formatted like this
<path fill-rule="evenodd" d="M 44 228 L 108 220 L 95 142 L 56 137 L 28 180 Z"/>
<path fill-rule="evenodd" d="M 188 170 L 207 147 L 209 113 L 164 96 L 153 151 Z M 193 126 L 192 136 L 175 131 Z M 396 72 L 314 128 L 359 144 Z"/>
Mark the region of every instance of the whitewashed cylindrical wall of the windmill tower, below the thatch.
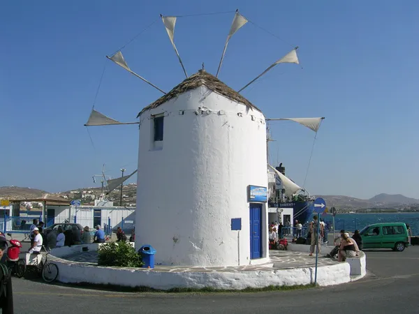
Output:
<path fill-rule="evenodd" d="M 197 115 L 203 106 L 212 113 Z M 157 149 L 154 114 L 165 114 Z M 137 247 L 154 246 L 156 264 L 237 265 L 239 248 L 250 263 L 247 186 L 267 186 L 261 112 L 199 87 L 142 113 L 138 155 Z M 266 203 L 263 213 L 266 258 Z M 240 245 L 231 218 L 242 218 Z"/>

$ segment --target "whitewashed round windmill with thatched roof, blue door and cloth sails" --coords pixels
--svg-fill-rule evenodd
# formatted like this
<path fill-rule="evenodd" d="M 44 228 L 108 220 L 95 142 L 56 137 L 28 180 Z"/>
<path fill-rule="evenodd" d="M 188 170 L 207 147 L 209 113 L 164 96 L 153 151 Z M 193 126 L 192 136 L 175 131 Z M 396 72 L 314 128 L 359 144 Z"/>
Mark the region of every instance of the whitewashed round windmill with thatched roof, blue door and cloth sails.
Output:
<path fill-rule="evenodd" d="M 279 63 L 298 64 L 297 49 L 235 91 L 217 76 L 230 38 L 248 22 L 238 10 L 216 76 L 205 70 L 188 76 L 174 40 L 177 17 L 161 20 L 186 80 L 166 93 L 134 73 L 118 51 L 108 59 L 163 96 L 140 110 L 139 121 L 119 122 L 92 109 L 85 124 L 140 125 L 135 246 L 154 246 L 157 264 L 265 262 L 267 119 L 239 92 Z"/>

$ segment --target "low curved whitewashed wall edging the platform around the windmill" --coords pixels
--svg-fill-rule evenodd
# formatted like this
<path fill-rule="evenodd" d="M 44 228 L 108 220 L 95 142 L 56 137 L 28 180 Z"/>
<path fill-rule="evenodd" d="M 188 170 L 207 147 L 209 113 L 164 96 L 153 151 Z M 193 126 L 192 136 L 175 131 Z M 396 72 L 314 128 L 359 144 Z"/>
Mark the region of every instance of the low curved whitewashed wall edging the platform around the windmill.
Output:
<path fill-rule="evenodd" d="M 82 251 L 96 251 L 98 245 L 89 244 L 55 248 L 52 260 L 59 268 L 58 281 L 61 283 L 112 284 L 126 287 L 147 286 L 168 290 L 174 287 L 212 287 L 214 289 L 242 290 L 247 287 L 267 287 L 268 285 L 308 285 L 314 283 L 315 268 L 278 269 L 263 267 L 263 270 L 204 271 L 167 269 L 139 269 L 128 267 L 98 267 L 84 262 L 65 260 L 67 255 Z M 63 258 L 64 257 L 64 258 Z M 337 263 L 318 267 L 318 285 L 338 285 L 351 281 L 351 267 L 348 263 Z"/>

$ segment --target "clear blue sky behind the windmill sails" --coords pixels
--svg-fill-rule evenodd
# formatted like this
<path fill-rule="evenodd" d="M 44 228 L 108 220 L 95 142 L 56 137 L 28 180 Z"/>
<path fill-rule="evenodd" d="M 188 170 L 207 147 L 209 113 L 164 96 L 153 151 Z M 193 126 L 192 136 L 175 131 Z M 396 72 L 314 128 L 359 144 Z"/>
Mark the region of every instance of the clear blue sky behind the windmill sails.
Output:
<path fill-rule="evenodd" d="M 159 92 L 105 59 L 163 15 L 233 11 L 246 24 L 230 40 L 220 79 L 266 117 L 326 117 L 306 187 L 311 193 L 419 198 L 419 2 L 417 1 L 6 1 L 0 12 L 0 186 L 56 192 L 94 185 L 106 164 L 133 171 L 137 126 L 90 128 L 96 109 L 122 121 Z M 141 4 L 147 3 L 147 4 Z M 189 74 L 216 67 L 234 13 L 179 17 L 175 42 Z M 128 65 L 164 90 L 184 79 L 161 20 L 122 50 Z M 271 160 L 304 181 L 314 133 L 272 124 Z M 141 174 L 140 174 L 141 175 Z M 147 178 L 144 178 L 147 180 Z"/>

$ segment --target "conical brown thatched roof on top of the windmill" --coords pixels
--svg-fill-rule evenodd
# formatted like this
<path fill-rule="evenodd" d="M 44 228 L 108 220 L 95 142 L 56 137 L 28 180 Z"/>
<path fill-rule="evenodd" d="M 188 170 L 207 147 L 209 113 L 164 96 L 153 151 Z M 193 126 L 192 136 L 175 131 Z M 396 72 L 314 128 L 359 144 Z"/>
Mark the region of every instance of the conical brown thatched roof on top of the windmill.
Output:
<path fill-rule="evenodd" d="M 191 75 L 182 83 L 177 85 L 177 87 L 169 91 L 168 94 L 162 96 L 161 98 L 154 101 L 154 103 L 149 104 L 147 107 L 141 110 L 137 117 L 140 117 L 140 114 L 142 114 L 142 112 L 145 112 L 146 110 L 159 107 L 159 105 L 166 103 L 166 101 L 175 98 L 186 91 L 196 89 L 202 85 L 207 87 L 207 89 L 211 89 L 217 94 L 229 98 L 230 100 L 236 101 L 237 103 L 242 103 L 243 105 L 247 105 L 247 107 L 251 107 L 252 109 L 261 111 L 249 100 L 237 93 L 237 91 L 235 91 L 234 89 L 228 87 L 226 84 L 217 79 L 214 75 L 207 73 L 205 70 L 199 70 L 197 73 Z"/>

